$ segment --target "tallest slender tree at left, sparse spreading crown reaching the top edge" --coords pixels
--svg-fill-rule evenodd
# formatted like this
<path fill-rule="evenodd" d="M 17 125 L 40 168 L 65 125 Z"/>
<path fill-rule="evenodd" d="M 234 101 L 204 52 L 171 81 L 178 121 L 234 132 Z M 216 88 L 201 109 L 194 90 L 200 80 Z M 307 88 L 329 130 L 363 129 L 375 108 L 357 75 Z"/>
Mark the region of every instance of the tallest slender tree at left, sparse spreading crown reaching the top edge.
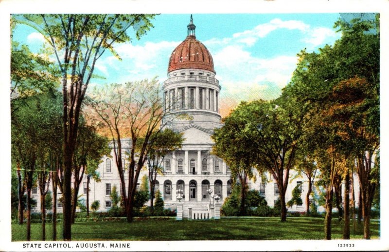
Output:
<path fill-rule="evenodd" d="M 115 42 L 130 41 L 126 34 L 135 29 L 137 39 L 146 33 L 154 15 L 18 15 L 19 23 L 35 28 L 52 48 L 62 74 L 63 95 L 63 239 L 71 240 L 71 169 L 77 144 L 81 105 L 97 60 L 108 49 L 114 56 Z M 68 83 L 70 82 L 70 83 Z"/>

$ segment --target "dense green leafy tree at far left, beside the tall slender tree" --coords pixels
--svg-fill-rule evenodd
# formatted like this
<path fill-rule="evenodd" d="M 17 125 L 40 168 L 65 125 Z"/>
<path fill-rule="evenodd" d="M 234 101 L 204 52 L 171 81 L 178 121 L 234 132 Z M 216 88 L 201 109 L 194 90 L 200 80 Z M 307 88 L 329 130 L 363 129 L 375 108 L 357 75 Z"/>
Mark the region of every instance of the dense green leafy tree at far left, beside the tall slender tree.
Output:
<path fill-rule="evenodd" d="M 31 238 L 31 190 L 37 179 L 36 172 L 46 175 L 48 172 L 44 160 L 46 138 L 55 125 L 56 107 L 53 100 L 55 96 L 51 94 L 27 97 L 11 117 L 13 160 L 17 162 L 18 174 L 23 172 L 23 183 L 27 191 L 27 240 Z M 14 104 L 18 104 L 18 101 Z M 43 177 L 38 177 L 38 180 L 43 189 L 47 180 Z M 45 194 L 47 190 L 42 192 Z"/>

